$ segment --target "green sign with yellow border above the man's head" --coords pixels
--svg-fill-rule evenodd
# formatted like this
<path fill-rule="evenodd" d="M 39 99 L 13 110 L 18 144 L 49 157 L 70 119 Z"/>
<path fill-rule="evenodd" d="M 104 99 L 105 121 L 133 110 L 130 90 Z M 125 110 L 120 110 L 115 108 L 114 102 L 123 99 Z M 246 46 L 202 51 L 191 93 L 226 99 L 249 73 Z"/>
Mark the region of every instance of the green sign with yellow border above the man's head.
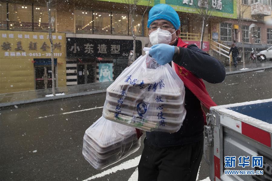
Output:
<path fill-rule="evenodd" d="M 198 13 L 197 8 L 201 5 L 211 4 L 212 15 L 225 17 L 225 18 L 237 18 L 236 12 L 236 0 L 160 0 L 155 1 L 155 5 L 159 3 L 165 3 L 176 11 Z"/>

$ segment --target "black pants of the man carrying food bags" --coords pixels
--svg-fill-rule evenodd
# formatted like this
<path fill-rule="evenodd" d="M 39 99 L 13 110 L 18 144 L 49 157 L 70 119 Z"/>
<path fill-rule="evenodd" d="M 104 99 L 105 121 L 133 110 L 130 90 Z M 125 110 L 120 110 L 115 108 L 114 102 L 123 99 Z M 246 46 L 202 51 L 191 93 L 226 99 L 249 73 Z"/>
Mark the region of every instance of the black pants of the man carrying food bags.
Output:
<path fill-rule="evenodd" d="M 144 140 L 138 181 L 195 181 L 203 154 L 203 140 L 176 147 L 158 148 Z"/>

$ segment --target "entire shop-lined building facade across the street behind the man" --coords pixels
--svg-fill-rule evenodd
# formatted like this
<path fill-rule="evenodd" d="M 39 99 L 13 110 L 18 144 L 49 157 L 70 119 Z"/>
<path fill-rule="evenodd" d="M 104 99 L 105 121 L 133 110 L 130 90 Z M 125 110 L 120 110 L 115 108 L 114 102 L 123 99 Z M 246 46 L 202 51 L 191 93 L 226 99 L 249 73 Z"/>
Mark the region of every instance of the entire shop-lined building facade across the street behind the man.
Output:
<path fill-rule="evenodd" d="M 180 37 L 199 46 L 202 20 L 197 8 L 202 1 L 207 2 L 152 0 L 148 6 L 148 0 L 141 0 L 133 26 L 133 14 L 129 13 L 129 5 L 123 0 L 54 1 L 50 24 L 53 27 L 56 85 L 114 80 L 128 66 L 133 50 L 132 31 L 137 31 L 136 57 L 144 53 L 143 47 L 151 46 L 146 27 L 148 11 L 159 3 L 169 4 L 178 12 Z M 272 44 L 271 0 L 211 0 L 211 3 L 212 16 L 205 24 L 203 50 L 211 51 L 211 40 L 227 45 L 236 40 L 238 46 L 244 40 L 248 49 L 254 41 L 261 49 Z M 239 16 L 238 5 L 248 7 L 243 18 Z M 143 15 L 146 7 L 147 12 Z M 260 11 L 260 7 L 267 11 Z M 256 40 L 247 33 L 252 22 L 259 28 L 260 36 Z M 239 24 L 242 26 L 237 28 Z M 0 93 L 51 87 L 48 26 L 45 3 L 0 0 Z M 244 38 L 240 29 L 245 32 Z"/>

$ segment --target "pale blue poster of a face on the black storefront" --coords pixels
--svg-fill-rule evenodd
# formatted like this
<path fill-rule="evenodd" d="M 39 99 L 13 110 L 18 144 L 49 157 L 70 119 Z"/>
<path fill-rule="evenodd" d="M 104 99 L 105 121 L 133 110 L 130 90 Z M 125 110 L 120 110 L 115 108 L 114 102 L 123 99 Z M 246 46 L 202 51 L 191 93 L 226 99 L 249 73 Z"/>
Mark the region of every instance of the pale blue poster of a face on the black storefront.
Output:
<path fill-rule="evenodd" d="M 99 63 L 98 73 L 99 73 L 99 82 L 107 82 L 113 80 L 113 70 L 112 63 Z"/>

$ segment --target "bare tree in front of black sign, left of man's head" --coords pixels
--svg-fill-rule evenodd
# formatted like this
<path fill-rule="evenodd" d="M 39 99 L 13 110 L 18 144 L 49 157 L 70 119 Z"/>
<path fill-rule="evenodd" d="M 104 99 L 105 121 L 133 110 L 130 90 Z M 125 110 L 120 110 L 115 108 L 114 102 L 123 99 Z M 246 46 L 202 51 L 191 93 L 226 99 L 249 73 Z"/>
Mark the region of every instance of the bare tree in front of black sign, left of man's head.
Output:
<path fill-rule="evenodd" d="M 139 33 L 140 26 L 138 26 L 137 30 L 135 31 L 133 28 L 134 25 L 134 19 L 136 16 L 136 10 L 137 10 L 137 4 L 139 3 L 140 0 L 124 0 L 125 2 L 125 7 L 127 8 L 129 15 L 130 15 L 130 29 L 131 29 L 131 34 L 133 37 L 133 62 L 135 61 L 135 54 L 136 54 L 136 37 Z M 150 0 L 148 1 L 148 4 L 146 5 L 146 8 L 143 12 L 141 22 L 143 22 L 144 15 L 146 14 L 146 11 L 149 7 Z"/>

